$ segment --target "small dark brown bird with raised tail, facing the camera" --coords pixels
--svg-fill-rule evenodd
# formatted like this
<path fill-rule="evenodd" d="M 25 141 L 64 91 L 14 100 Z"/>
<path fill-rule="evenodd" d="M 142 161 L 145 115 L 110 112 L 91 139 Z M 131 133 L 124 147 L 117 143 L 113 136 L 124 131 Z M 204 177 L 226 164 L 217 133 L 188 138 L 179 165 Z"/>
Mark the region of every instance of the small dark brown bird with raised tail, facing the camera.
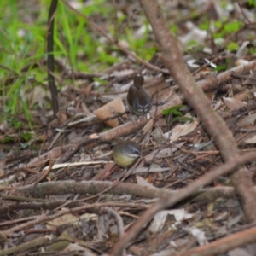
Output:
<path fill-rule="evenodd" d="M 143 89 L 143 76 L 136 76 L 128 90 L 127 102 L 131 113 L 144 115 L 152 108 L 152 98 L 147 90 Z"/>

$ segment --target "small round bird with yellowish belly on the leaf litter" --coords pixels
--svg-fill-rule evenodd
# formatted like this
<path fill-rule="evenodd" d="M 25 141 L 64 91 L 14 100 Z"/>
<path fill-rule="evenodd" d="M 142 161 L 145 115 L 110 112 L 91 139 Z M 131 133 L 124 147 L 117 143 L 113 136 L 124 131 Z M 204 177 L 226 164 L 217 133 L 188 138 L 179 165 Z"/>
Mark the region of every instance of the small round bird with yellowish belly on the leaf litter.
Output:
<path fill-rule="evenodd" d="M 119 141 L 113 148 L 114 162 L 123 168 L 129 168 L 139 158 L 141 146 L 133 141 Z"/>

